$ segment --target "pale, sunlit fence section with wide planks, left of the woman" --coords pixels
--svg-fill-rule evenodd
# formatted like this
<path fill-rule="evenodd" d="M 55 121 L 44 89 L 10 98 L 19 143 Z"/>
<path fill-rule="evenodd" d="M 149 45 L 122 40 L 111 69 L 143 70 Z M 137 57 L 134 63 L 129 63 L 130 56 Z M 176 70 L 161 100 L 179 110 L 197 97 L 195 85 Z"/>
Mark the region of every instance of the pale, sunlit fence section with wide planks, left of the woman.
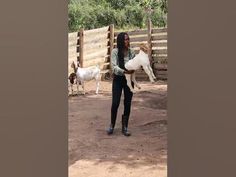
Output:
<path fill-rule="evenodd" d="M 99 65 L 102 73 L 109 72 L 110 27 L 69 33 L 68 71 L 70 64 L 79 61 L 81 67 Z"/>

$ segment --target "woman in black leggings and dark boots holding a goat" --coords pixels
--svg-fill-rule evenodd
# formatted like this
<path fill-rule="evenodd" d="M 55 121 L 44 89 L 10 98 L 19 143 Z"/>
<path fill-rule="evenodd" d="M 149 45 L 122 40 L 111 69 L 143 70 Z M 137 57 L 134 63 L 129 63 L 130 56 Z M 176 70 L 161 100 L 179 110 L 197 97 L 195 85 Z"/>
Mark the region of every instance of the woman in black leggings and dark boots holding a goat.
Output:
<path fill-rule="evenodd" d="M 128 34 L 124 32 L 120 33 L 117 36 L 117 48 L 113 49 L 111 53 L 111 67 L 114 77 L 112 82 L 111 124 L 109 129 L 107 130 L 108 135 L 111 135 L 114 131 L 122 90 L 124 91 L 122 133 L 125 136 L 131 135 L 131 133 L 128 131 L 128 122 L 133 93 L 127 86 L 127 81 L 124 74 L 132 74 L 134 71 L 126 70 L 124 64 L 134 57 L 135 53 L 134 50 L 130 49 Z M 132 86 L 134 86 L 133 83 Z"/>

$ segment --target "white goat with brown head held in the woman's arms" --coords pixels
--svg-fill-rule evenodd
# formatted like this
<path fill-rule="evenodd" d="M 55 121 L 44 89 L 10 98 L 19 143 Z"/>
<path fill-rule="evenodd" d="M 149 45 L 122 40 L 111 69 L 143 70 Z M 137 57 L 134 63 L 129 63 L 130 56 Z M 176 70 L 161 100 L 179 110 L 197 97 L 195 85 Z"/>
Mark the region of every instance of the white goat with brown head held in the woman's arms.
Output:
<path fill-rule="evenodd" d="M 150 61 L 148 58 L 148 51 L 149 51 L 149 47 L 146 44 L 141 44 L 139 53 L 133 59 L 125 63 L 125 68 L 127 70 L 137 70 L 141 68 L 142 66 L 145 73 L 148 75 L 150 81 L 154 83 L 154 79 L 156 79 L 156 77 L 153 74 L 152 68 L 150 66 Z M 134 85 L 137 88 L 141 89 L 141 87 L 138 85 L 135 79 L 135 72 L 133 74 L 125 74 L 125 77 L 127 80 L 127 85 L 132 92 L 134 92 L 134 89 L 131 85 L 131 81 L 134 82 Z"/>

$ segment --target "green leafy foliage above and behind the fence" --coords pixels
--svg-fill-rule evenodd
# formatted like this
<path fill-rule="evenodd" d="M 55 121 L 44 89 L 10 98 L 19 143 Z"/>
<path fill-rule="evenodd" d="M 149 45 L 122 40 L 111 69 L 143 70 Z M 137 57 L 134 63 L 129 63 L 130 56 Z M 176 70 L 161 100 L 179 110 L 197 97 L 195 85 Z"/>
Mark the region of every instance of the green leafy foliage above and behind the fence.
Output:
<path fill-rule="evenodd" d="M 148 17 L 154 26 L 164 27 L 168 10 L 167 0 L 70 0 L 68 12 L 73 32 L 110 24 L 117 29 L 145 28 Z"/>

